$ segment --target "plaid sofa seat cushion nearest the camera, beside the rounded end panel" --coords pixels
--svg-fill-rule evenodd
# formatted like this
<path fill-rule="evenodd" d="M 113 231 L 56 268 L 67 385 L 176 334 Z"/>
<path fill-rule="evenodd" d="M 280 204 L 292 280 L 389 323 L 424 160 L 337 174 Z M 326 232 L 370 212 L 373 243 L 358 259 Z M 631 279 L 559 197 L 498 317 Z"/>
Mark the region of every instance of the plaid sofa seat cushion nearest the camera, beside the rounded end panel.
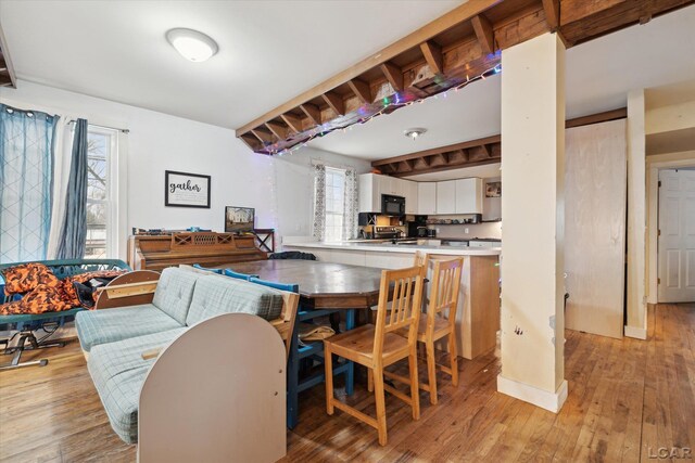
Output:
<path fill-rule="evenodd" d="M 87 368 L 99 391 L 111 427 L 127 443 L 138 441 L 138 402 L 144 378 L 155 359 L 142 360 L 147 350 L 165 347 L 187 329 L 94 346 Z"/>

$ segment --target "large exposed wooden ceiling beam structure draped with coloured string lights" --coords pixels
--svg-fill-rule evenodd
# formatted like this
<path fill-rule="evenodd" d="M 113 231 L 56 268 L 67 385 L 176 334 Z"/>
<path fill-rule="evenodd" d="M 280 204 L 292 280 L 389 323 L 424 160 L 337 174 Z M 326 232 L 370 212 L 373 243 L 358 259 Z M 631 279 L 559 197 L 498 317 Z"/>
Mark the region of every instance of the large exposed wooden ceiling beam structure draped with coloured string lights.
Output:
<path fill-rule="evenodd" d="M 545 31 L 558 30 L 571 47 L 693 2 L 470 0 L 237 129 L 237 137 L 255 152 L 281 152 L 465 85 L 491 73 L 500 64 L 500 50 Z M 274 130 L 269 138 L 255 133 L 273 120 L 292 130 L 285 138 Z"/>

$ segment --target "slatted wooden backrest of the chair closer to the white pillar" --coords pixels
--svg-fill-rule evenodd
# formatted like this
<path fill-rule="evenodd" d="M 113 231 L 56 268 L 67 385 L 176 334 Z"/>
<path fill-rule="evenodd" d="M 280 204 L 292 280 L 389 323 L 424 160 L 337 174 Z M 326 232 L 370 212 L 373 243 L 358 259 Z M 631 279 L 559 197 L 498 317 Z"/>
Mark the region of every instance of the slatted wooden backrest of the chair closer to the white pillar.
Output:
<path fill-rule="evenodd" d="M 427 308 L 427 329 L 434 329 L 434 320 L 442 317 L 453 325 L 456 321 L 460 273 L 464 267 L 462 257 L 451 260 L 434 260 L 432 290 Z"/>

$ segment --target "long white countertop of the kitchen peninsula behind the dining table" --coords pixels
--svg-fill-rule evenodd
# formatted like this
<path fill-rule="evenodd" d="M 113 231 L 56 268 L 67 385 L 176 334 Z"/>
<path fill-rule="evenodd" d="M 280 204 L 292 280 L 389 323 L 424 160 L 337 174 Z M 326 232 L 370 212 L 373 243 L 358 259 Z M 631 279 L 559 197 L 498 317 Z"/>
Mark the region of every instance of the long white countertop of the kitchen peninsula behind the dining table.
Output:
<path fill-rule="evenodd" d="M 448 245 L 414 245 L 414 244 L 392 244 L 389 242 L 366 243 L 366 242 L 339 242 L 339 243 L 286 243 L 283 247 L 301 248 L 301 249 L 342 249 L 342 250 L 371 250 L 381 253 L 410 253 L 416 250 L 425 250 L 429 254 L 445 254 L 448 256 L 498 256 L 502 253 L 501 247 L 464 247 Z"/>

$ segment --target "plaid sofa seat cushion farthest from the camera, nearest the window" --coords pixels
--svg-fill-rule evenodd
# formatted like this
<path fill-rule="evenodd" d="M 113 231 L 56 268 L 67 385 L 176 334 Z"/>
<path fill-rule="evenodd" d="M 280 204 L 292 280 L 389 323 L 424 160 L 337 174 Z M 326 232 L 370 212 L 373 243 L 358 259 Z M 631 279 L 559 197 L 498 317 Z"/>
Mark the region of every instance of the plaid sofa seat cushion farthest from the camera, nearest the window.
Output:
<path fill-rule="evenodd" d="M 181 324 L 152 304 L 117 309 L 81 311 L 75 317 L 83 350 L 93 346 L 181 327 Z"/>

